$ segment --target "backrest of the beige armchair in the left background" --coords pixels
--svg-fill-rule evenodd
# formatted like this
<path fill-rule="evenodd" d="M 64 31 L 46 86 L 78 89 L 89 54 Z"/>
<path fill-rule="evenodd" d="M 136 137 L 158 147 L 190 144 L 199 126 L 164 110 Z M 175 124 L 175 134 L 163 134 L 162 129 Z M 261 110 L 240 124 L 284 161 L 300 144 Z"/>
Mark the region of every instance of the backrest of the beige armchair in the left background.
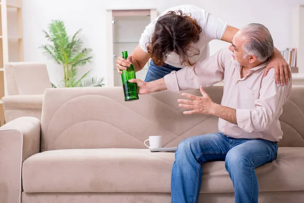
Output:
<path fill-rule="evenodd" d="M 4 69 L 7 95 L 43 94 L 52 87 L 46 64 L 9 62 Z"/>

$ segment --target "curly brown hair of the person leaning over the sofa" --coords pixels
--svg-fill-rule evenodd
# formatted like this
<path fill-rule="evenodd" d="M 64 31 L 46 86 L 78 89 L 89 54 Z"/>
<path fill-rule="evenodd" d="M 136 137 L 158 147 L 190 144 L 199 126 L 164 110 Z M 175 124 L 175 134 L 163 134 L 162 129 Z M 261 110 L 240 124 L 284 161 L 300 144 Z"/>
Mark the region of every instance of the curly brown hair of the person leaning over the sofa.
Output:
<path fill-rule="evenodd" d="M 200 40 L 202 27 L 190 15 L 178 11 L 169 11 L 160 17 L 150 42 L 146 44 L 147 51 L 156 65 L 165 63 L 167 55 L 175 52 L 181 58 L 181 64 L 194 65 L 189 61 L 188 52 L 191 43 Z M 198 50 L 199 54 L 200 51 Z"/>

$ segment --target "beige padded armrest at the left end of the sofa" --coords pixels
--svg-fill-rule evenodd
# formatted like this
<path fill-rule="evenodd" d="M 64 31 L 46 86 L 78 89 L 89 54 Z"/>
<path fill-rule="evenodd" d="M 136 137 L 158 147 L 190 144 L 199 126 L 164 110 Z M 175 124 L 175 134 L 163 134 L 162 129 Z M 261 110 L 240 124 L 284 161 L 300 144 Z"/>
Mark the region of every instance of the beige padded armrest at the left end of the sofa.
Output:
<path fill-rule="evenodd" d="M 40 152 L 40 120 L 20 117 L 0 127 L 0 202 L 21 202 L 22 163 Z"/>

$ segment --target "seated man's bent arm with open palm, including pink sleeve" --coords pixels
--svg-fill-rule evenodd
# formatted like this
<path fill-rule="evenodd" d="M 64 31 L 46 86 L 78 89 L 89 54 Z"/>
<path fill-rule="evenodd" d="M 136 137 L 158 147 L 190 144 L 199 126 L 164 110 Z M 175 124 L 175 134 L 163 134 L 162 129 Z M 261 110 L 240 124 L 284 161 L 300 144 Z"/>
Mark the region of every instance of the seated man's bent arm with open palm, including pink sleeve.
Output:
<path fill-rule="evenodd" d="M 280 86 L 275 83 L 274 70 L 262 80 L 260 96 L 255 101 L 255 108 L 232 109 L 215 104 L 201 87 L 202 97 L 182 93 L 182 96 L 193 100 L 178 99 L 180 107 L 193 109 L 184 114 L 214 115 L 238 125 L 245 132 L 263 131 L 267 129 L 281 112 L 282 106 L 291 92 L 291 84 Z"/>

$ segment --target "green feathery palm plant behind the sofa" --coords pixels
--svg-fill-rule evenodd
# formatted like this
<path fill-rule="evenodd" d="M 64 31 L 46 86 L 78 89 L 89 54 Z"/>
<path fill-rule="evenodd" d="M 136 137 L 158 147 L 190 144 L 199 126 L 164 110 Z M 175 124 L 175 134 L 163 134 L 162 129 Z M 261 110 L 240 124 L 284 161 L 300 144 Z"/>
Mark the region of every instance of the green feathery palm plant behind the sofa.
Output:
<path fill-rule="evenodd" d="M 72 38 L 67 36 L 63 21 L 52 20 L 49 24 L 49 32 L 43 30 L 50 44 L 42 45 L 43 54 L 56 63 L 62 65 L 64 78 L 53 87 L 87 87 L 87 86 L 103 86 L 100 78 L 89 78 L 90 71 L 83 76 L 77 77 L 79 67 L 91 63 L 91 49 L 82 48 L 83 42 L 78 38 L 78 34 L 82 30 L 79 29 Z"/>

